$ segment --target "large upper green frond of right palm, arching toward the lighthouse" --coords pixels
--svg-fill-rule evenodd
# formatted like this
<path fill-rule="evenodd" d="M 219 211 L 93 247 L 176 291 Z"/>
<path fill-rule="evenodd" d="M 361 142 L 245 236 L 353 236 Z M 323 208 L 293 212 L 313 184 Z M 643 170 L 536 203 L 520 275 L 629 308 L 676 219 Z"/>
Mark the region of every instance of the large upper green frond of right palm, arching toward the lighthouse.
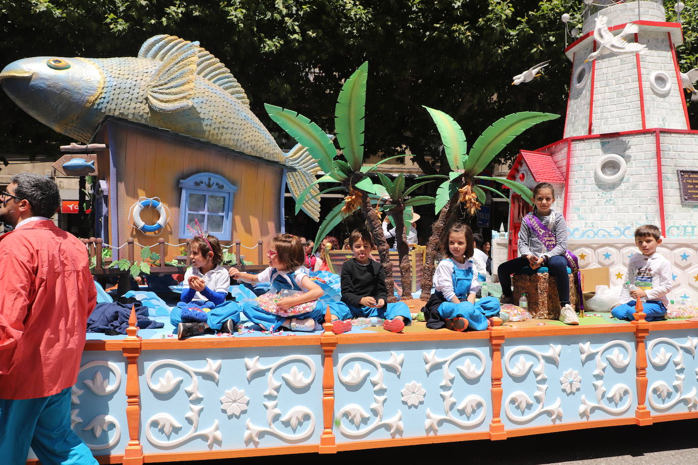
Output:
<path fill-rule="evenodd" d="M 552 113 L 519 112 L 498 119 L 482 132 L 473 148 L 470 148 L 465 164 L 466 172 L 471 175 L 480 173 L 521 132 L 537 123 L 559 117 L 560 115 Z"/>

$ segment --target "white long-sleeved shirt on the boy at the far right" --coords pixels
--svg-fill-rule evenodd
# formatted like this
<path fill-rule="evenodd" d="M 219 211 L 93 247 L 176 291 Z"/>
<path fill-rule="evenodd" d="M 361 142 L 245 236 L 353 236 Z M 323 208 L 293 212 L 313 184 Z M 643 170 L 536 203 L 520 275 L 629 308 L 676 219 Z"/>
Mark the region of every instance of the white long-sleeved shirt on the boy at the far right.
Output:
<path fill-rule="evenodd" d="M 643 289 L 647 300 L 660 300 L 664 305 L 669 305 L 667 294 L 671 291 L 671 263 L 659 252 L 654 252 L 649 257 L 643 254 L 634 254 L 628 262 L 628 272 L 625 274 L 625 282 Z M 623 286 L 619 303 L 628 303 L 633 300 L 630 292 Z"/>

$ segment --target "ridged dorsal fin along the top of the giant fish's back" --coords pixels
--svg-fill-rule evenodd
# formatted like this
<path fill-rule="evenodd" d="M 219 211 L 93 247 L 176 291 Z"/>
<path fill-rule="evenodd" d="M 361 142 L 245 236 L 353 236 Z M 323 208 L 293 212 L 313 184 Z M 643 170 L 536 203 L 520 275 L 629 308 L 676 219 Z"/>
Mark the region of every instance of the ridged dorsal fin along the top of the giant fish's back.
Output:
<path fill-rule="evenodd" d="M 249 107 L 250 100 L 240 83 L 235 79 L 235 76 L 230 73 L 230 70 L 220 60 L 203 47 L 200 47 L 198 42 L 191 43 L 177 36 L 160 34 L 159 36 L 149 38 L 143 43 L 138 52 L 138 58 L 165 61 L 168 55 L 178 54 L 179 49 L 192 44 L 197 48 L 198 54 L 196 74 L 221 87 L 221 89 L 237 98 L 243 105 Z"/>

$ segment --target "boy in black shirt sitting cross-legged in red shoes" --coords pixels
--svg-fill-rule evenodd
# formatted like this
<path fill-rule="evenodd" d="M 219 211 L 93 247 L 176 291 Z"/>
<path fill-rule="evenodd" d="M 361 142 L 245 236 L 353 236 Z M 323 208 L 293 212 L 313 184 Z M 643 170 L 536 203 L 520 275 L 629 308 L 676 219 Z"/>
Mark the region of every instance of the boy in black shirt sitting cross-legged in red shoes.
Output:
<path fill-rule="evenodd" d="M 355 229 L 349 236 L 354 258 L 342 265 L 342 300 L 329 304 L 332 331 L 345 333 L 351 329 L 351 318 L 380 317 L 383 329 L 401 333 L 410 323 L 410 308 L 404 302 L 389 303 L 385 289 L 383 265 L 371 260 L 373 236 L 366 229 Z"/>

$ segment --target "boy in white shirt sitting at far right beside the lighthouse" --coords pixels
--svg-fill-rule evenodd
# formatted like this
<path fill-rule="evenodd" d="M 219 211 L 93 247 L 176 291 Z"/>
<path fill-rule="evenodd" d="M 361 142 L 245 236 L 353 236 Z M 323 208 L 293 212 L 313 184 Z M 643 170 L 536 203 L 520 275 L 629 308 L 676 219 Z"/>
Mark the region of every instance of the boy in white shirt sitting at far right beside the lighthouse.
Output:
<path fill-rule="evenodd" d="M 660 230 L 653 224 L 635 229 L 635 244 L 639 254 L 630 257 L 626 284 L 621 290 L 620 303 L 611 310 L 617 319 L 634 320 L 636 299 L 642 300 L 647 321 L 665 319 L 671 291 L 671 264 L 657 252 L 662 243 Z M 630 289 L 628 289 L 630 288 Z"/>

